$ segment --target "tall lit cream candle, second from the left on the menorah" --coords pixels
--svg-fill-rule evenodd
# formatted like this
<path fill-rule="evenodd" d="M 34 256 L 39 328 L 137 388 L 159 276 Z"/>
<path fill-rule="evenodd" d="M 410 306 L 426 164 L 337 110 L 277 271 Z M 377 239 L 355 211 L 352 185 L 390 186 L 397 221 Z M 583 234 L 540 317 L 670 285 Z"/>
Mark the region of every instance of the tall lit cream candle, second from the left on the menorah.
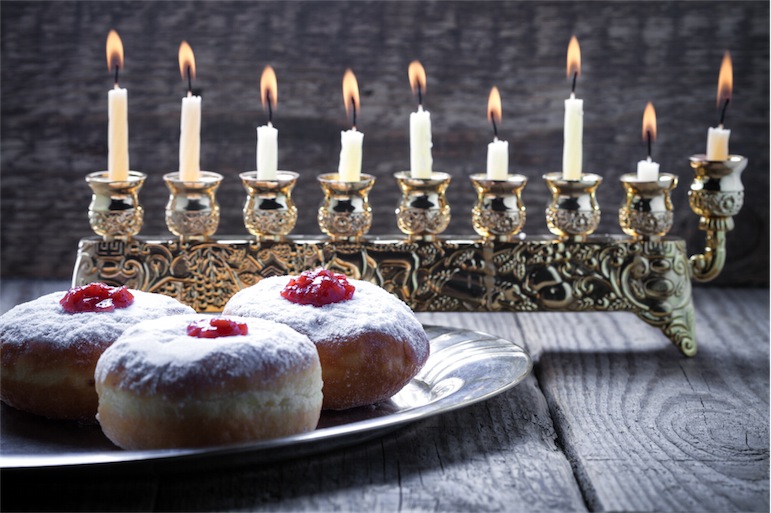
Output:
<path fill-rule="evenodd" d="M 195 57 L 187 41 L 179 45 L 179 71 L 182 79 L 187 79 L 179 124 L 179 177 L 185 182 L 197 182 L 201 176 L 201 97 L 193 96 Z"/>

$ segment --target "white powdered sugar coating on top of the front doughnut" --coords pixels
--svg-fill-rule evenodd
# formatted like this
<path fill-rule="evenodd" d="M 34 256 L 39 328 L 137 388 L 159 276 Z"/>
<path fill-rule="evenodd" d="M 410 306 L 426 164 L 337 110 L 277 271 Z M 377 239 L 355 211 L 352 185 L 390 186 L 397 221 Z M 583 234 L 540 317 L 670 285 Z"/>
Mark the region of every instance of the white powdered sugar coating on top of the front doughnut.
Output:
<path fill-rule="evenodd" d="M 228 393 L 239 379 L 270 383 L 281 373 L 318 365 L 316 346 L 288 326 L 262 319 L 227 317 L 248 334 L 212 339 L 187 335 L 200 314 L 145 321 L 128 329 L 101 356 L 97 382 L 119 373 L 118 387 L 141 393 L 192 395 L 195 387 Z"/>

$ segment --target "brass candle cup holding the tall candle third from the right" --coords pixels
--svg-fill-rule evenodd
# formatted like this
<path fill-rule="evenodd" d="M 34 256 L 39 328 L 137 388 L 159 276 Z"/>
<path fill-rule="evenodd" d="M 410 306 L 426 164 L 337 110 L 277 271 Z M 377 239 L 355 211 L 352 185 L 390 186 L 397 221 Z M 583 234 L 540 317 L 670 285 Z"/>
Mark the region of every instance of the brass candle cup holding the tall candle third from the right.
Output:
<path fill-rule="evenodd" d="M 562 173 L 543 175 L 552 199 L 546 208 L 549 231 L 562 240 L 580 242 L 600 224 L 600 207 L 595 193 L 602 177 L 582 174 L 580 180 L 565 180 Z"/>

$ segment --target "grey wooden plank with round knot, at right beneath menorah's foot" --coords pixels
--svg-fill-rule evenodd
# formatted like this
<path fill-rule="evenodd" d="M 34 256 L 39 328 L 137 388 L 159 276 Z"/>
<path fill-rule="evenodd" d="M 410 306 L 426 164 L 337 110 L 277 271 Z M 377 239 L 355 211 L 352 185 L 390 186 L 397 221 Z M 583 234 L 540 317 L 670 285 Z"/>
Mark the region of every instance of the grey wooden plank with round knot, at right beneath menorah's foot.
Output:
<path fill-rule="evenodd" d="M 518 316 L 591 510 L 768 510 L 768 292 L 695 302 L 693 359 L 629 314 Z"/>

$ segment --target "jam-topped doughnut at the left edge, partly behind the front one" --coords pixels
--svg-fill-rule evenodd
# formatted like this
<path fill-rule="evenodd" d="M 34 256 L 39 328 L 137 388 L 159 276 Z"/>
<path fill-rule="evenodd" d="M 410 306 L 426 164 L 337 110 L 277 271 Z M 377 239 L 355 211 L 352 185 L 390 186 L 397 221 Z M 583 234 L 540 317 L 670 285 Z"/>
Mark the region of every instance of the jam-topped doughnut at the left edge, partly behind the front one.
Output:
<path fill-rule="evenodd" d="M 176 299 L 92 283 L 15 306 L 0 317 L 0 400 L 54 419 L 94 422 L 94 368 L 128 327 L 193 313 Z"/>

